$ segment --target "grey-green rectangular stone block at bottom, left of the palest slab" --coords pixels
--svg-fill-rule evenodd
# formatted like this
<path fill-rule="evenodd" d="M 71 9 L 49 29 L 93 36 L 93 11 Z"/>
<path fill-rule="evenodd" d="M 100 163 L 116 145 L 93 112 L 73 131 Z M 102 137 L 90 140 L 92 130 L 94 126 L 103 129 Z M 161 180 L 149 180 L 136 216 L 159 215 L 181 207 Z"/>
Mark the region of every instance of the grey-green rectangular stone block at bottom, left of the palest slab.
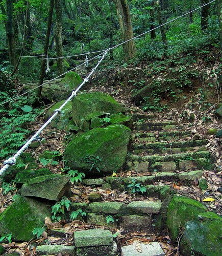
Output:
<path fill-rule="evenodd" d="M 109 230 L 88 229 L 74 232 L 76 247 L 112 245 L 113 235 Z"/>

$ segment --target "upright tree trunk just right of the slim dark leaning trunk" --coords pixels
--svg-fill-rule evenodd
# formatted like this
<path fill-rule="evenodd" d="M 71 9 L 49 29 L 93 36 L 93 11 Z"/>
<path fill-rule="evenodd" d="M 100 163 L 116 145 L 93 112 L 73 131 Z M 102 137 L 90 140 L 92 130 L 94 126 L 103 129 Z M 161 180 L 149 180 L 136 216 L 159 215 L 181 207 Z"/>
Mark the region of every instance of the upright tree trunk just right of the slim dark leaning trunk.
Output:
<path fill-rule="evenodd" d="M 56 40 L 56 54 L 57 57 L 63 56 L 62 47 L 62 2 L 61 0 L 55 0 L 56 10 L 56 28 L 55 28 L 55 40 Z M 57 59 L 58 74 L 63 74 L 63 59 Z"/>

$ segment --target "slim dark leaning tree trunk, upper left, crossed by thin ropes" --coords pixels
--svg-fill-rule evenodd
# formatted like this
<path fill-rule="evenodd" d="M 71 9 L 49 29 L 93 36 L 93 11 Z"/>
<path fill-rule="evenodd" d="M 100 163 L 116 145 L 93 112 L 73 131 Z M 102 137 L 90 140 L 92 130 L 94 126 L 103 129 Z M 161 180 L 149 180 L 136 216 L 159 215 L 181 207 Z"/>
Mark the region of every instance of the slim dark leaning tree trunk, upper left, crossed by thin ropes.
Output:
<path fill-rule="evenodd" d="M 55 0 L 50 0 L 50 10 L 48 12 L 48 25 L 47 25 L 47 32 L 46 32 L 46 36 L 45 36 L 45 45 L 44 45 L 44 51 L 43 51 L 44 56 L 46 56 L 47 53 L 48 53 L 48 44 L 50 42 L 50 32 L 51 32 L 51 26 L 52 26 L 54 1 Z M 43 80 L 44 80 L 45 63 L 46 63 L 46 60 L 45 60 L 45 58 L 43 58 L 42 63 L 41 63 L 39 86 L 43 83 Z M 41 97 L 41 93 L 42 93 L 42 87 L 39 87 L 36 91 L 36 102 L 35 103 L 39 102 L 39 99 Z"/>

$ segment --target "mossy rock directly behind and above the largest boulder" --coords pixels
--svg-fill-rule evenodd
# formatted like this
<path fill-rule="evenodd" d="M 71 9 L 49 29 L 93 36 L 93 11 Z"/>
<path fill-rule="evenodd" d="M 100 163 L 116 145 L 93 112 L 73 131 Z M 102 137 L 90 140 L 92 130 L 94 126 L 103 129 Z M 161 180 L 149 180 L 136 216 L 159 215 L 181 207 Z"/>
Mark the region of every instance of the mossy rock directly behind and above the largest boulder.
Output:
<path fill-rule="evenodd" d="M 84 119 L 93 112 L 115 114 L 125 112 L 125 109 L 113 97 L 101 92 L 81 93 L 73 99 L 72 118 L 79 127 L 82 126 Z"/>

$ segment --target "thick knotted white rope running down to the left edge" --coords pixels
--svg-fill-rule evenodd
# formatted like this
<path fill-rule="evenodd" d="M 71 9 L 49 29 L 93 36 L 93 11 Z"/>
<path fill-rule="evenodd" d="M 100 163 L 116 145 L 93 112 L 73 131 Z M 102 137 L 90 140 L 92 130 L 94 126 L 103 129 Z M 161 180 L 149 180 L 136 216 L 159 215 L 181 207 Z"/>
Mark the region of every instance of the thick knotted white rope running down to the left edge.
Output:
<path fill-rule="evenodd" d="M 16 159 L 25 151 L 27 150 L 27 148 L 29 147 L 29 145 L 36 140 L 36 138 L 38 138 L 39 134 L 45 129 L 45 127 L 50 124 L 53 119 L 59 114 L 61 113 L 62 109 L 64 108 L 64 106 L 73 98 L 77 95 L 77 93 L 79 92 L 79 90 L 84 86 L 84 84 L 86 82 L 88 82 L 89 78 L 91 77 L 91 75 L 95 72 L 95 70 L 98 68 L 98 66 L 100 66 L 100 63 L 103 61 L 103 59 L 105 58 L 105 56 L 107 55 L 109 49 L 103 54 L 102 58 L 98 61 L 97 65 L 95 66 L 95 68 L 92 69 L 92 71 L 90 72 L 90 74 L 83 80 L 83 82 L 80 84 L 80 86 L 75 90 L 72 91 L 71 95 L 69 96 L 69 98 L 60 106 L 59 109 L 55 110 L 55 113 L 51 116 L 50 119 L 47 120 L 47 122 L 45 122 L 41 128 L 26 142 L 26 144 L 24 144 L 20 150 L 13 156 L 10 157 L 8 160 L 4 161 L 4 166 L 1 168 L 0 170 L 0 176 L 3 175 L 3 173 L 5 172 L 5 170 L 7 170 L 11 165 L 15 165 L 16 164 Z"/>

